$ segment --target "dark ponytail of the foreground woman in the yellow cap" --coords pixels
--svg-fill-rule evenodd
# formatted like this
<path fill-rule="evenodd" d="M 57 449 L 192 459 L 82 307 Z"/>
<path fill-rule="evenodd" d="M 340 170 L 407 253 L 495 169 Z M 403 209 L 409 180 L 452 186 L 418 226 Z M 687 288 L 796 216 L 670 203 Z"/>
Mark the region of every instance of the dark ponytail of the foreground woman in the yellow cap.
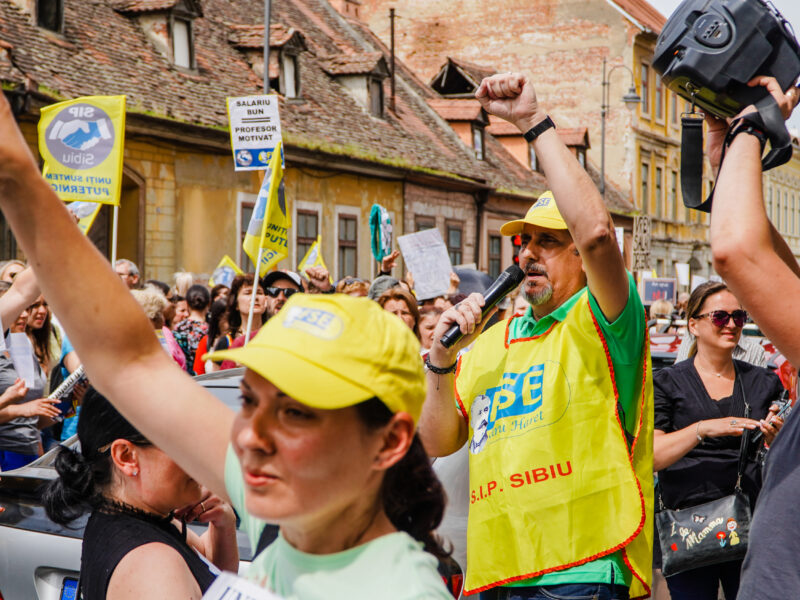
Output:
<path fill-rule="evenodd" d="M 369 428 L 386 425 L 392 418 L 392 412 L 378 398 L 357 404 L 356 409 Z M 422 542 L 425 551 L 437 558 L 450 555 L 434 533 L 444 516 L 444 488 L 418 434 L 400 462 L 386 471 L 380 495 L 392 525 Z"/>

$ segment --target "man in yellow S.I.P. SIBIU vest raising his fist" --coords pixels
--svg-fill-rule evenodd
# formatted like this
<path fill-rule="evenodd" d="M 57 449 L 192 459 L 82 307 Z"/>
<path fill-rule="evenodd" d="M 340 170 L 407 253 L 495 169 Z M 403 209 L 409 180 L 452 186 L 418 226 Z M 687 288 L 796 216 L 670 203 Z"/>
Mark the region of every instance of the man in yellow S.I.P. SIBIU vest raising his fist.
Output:
<path fill-rule="evenodd" d="M 603 200 L 518 74 L 476 96 L 534 146 L 552 192 L 525 218 L 530 307 L 479 338 L 483 297 L 442 315 L 420 434 L 468 444 L 465 591 L 481 598 L 627 599 L 650 593 L 653 391 L 645 313 Z M 464 338 L 440 339 L 458 323 Z M 456 362 L 457 352 L 475 341 Z"/>

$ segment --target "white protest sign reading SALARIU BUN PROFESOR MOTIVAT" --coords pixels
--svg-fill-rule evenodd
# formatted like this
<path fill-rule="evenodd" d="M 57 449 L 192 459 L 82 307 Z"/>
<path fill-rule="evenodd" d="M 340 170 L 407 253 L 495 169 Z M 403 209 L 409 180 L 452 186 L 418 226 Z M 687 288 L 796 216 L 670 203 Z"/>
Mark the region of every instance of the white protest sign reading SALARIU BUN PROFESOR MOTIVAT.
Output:
<path fill-rule="evenodd" d="M 237 171 L 266 169 L 281 141 L 278 96 L 228 98 L 233 163 Z"/>

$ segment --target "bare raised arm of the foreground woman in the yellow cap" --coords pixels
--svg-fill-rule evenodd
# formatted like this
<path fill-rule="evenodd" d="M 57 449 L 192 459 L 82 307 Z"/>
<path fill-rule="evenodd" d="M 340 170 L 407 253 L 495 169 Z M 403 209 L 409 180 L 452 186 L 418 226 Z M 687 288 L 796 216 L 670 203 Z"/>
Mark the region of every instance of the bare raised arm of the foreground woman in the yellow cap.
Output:
<path fill-rule="evenodd" d="M 161 349 L 133 296 L 39 174 L 2 94 L 0 140 L 0 208 L 92 384 L 187 473 L 226 498 L 232 411 Z"/>

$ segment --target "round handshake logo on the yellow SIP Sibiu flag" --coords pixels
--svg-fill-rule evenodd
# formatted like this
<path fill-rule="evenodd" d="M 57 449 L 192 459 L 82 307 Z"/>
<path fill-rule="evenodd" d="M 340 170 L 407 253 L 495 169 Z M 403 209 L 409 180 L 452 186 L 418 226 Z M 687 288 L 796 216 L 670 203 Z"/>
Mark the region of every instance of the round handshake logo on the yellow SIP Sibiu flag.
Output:
<path fill-rule="evenodd" d="M 114 128 L 102 109 L 91 104 L 65 107 L 45 133 L 53 157 L 72 169 L 89 169 L 102 163 L 114 147 Z"/>

